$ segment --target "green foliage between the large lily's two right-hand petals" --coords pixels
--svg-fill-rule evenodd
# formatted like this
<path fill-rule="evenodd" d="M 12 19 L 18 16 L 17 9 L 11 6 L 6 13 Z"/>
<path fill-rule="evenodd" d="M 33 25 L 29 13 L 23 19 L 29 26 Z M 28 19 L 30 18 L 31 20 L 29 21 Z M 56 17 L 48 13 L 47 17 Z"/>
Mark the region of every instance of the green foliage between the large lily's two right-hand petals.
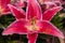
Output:
<path fill-rule="evenodd" d="M 53 23 L 58 29 L 62 29 L 63 28 L 63 17 L 60 17 L 58 16 L 60 13 L 57 13 L 53 19 L 51 20 L 51 23 Z"/>

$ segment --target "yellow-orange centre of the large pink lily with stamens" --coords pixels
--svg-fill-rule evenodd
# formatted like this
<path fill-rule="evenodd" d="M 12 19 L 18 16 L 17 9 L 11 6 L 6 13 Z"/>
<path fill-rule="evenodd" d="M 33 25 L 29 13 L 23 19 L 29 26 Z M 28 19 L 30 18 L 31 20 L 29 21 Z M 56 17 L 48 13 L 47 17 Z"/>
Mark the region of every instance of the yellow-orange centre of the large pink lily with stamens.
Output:
<path fill-rule="evenodd" d="M 36 25 L 37 24 L 37 19 L 36 18 L 31 18 L 30 20 L 31 26 L 27 26 L 27 29 L 30 31 L 37 31 L 39 30 L 39 27 Z"/>

